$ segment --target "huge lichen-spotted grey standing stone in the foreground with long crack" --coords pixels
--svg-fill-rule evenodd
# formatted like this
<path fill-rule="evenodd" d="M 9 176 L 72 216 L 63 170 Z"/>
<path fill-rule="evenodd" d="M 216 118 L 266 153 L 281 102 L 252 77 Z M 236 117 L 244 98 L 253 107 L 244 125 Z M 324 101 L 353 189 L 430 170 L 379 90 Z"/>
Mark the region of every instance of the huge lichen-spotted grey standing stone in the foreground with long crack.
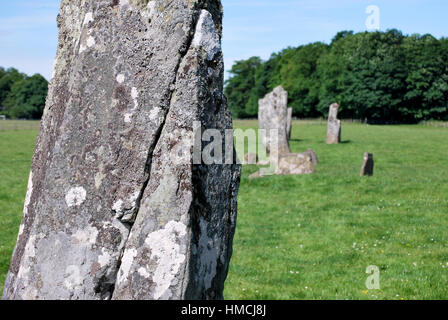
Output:
<path fill-rule="evenodd" d="M 193 121 L 231 129 L 221 19 L 215 0 L 62 0 L 4 299 L 223 298 L 240 166 L 189 159 Z"/>

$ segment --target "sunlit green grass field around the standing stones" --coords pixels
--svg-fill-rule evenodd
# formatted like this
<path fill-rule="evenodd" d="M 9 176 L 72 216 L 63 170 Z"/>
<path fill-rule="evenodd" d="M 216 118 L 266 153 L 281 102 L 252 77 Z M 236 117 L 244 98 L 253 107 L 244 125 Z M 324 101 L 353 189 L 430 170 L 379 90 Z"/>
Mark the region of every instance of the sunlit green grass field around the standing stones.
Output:
<path fill-rule="evenodd" d="M 256 127 L 236 121 L 235 127 Z M 37 129 L 0 128 L 0 286 L 20 224 Z M 293 152 L 316 173 L 248 180 L 239 193 L 226 299 L 448 299 L 448 129 L 295 122 Z M 363 153 L 375 176 L 361 178 Z M 366 268 L 380 268 L 367 290 Z"/>

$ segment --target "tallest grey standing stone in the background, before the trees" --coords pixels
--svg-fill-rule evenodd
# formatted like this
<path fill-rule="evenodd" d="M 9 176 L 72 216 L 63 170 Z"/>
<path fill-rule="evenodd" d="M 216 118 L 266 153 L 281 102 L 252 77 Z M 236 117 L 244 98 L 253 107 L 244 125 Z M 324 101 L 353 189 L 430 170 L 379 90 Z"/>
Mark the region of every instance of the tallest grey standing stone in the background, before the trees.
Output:
<path fill-rule="evenodd" d="M 266 130 L 263 136 L 263 144 L 266 151 L 270 153 L 271 137 L 270 130 L 278 130 L 278 152 L 279 154 L 290 153 L 288 142 L 288 92 L 281 86 L 267 94 L 258 101 L 258 122 L 259 129 Z"/>

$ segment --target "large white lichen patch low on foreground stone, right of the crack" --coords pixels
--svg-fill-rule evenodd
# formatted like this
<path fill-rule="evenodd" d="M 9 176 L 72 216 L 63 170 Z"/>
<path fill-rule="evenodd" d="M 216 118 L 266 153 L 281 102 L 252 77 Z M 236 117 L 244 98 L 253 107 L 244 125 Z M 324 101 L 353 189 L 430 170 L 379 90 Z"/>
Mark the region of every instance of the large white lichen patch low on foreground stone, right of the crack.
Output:
<path fill-rule="evenodd" d="M 165 228 L 148 235 L 145 244 L 151 249 L 151 259 L 156 260 L 152 281 L 155 283 L 154 299 L 169 299 L 169 288 L 177 284 L 180 267 L 185 261 L 187 227 L 170 221 Z"/>

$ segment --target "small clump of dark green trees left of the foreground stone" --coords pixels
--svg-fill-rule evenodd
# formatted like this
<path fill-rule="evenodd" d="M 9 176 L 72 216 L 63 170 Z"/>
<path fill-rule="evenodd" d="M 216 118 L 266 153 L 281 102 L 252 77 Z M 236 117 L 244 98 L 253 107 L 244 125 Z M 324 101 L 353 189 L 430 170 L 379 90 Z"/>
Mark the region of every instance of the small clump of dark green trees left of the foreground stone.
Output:
<path fill-rule="evenodd" d="M 48 81 L 14 68 L 0 68 L 0 114 L 12 119 L 40 119 L 45 107 Z"/>

